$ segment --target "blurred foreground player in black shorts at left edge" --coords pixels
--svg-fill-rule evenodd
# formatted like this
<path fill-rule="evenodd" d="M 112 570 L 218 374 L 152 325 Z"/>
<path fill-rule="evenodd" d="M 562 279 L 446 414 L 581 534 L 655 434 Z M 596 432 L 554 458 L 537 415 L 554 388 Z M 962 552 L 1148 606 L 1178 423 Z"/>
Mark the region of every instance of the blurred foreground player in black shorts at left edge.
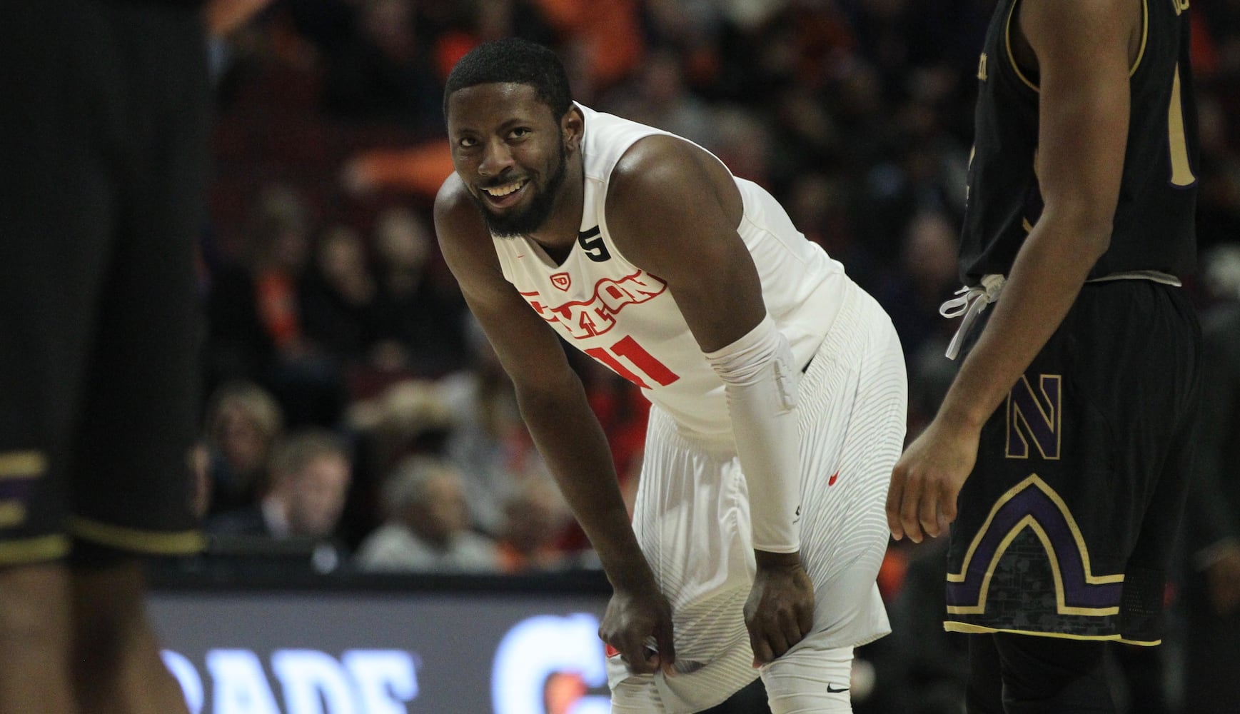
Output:
<path fill-rule="evenodd" d="M 202 5 L 0 4 L 2 714 L 186 710 L 136 555 L 201 540 Z"/>

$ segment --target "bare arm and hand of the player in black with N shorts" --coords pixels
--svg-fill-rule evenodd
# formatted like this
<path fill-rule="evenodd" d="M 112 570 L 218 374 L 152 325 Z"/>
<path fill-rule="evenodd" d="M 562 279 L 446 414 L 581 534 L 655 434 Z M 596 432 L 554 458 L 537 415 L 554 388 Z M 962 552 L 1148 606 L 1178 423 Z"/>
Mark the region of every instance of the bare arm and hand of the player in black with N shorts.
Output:
<path fill-rule="evenodd" d="M 1014 53 L 1040 89 L 1044 209 L 939 414 L 893 471 L 887 512 L 895 538 L 936 537 L 955 519 L 982 425 L 1063 322 L 1111 239 L 1141 2 L 1039 0 L 1017 15 Z"/>

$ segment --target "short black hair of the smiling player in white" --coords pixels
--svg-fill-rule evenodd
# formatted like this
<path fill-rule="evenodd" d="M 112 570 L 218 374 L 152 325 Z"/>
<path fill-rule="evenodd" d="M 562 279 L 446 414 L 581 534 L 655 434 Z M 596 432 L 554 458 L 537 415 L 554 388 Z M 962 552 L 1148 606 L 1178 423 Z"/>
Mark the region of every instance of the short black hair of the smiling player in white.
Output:
<path fill-rule="evenodd" d="M 573 105 L 564 63 L 549 48 L 520 37 L 484 42 L 460 58 L 444 86 L 444 118 L 448 98 L 458 89 L 491 83 L 528 84 L 538 100 L 551 108 L 557 119 Z"/>

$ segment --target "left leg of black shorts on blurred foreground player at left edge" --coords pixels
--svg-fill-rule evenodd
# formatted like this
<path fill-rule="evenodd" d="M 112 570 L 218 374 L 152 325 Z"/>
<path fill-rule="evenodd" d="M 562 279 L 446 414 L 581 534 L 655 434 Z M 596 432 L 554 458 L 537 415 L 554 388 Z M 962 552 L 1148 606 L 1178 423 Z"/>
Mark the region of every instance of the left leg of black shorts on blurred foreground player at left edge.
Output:
<path fill-rule="evenodd" d="M 68 548 L 67 449 L 117 216 L 95 5 L 12 2 L 0 19 L 15 68 L 0 102 L 0 565 Z"/>

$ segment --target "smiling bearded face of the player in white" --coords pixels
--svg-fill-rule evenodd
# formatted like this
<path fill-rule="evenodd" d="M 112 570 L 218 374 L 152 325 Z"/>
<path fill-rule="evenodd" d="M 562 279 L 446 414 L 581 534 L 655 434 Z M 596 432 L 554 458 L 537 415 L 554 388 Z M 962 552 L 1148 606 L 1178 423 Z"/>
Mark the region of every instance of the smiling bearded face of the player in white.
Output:
<path fill-rule="evenodd" d="M 568 166 L 564 134 L 528 84 L 494 83 L 448 98 L 453 166 L 496 236 L 537 231 Z"/>

